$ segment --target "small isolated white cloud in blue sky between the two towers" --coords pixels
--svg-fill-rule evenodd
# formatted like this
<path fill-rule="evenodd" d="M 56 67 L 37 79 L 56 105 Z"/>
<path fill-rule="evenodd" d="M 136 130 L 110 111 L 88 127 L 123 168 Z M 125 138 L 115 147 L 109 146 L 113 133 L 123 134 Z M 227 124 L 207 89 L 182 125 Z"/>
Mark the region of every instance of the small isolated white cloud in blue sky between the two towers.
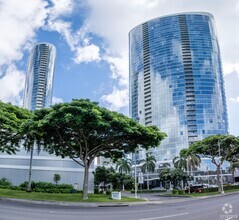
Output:
<path fill-rule="evenodd" d="M 100 61 L 100 48 L 94 44 L 90 44 L 87 46 L 79 46 L 76 49 L 76 55 L 74 58 L 75 63 L 81 62 L 92 62 L 92 61 Z"/>

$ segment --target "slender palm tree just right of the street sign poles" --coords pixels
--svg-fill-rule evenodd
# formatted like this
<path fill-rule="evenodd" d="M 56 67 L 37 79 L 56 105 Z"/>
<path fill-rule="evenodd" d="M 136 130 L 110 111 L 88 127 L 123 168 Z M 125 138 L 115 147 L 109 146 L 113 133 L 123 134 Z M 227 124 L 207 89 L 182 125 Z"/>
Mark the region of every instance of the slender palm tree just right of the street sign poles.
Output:
<path fill-rule="evenodd" d="M 143 163 L 141 171 L 147 175 L 147 189 L 149 190 L 149 172 L 152 173 L 155 170 L 155 156 L 150 155 L 150 153 L 146 153 L 146 158 L 141 160 L 140 163 Z"/>

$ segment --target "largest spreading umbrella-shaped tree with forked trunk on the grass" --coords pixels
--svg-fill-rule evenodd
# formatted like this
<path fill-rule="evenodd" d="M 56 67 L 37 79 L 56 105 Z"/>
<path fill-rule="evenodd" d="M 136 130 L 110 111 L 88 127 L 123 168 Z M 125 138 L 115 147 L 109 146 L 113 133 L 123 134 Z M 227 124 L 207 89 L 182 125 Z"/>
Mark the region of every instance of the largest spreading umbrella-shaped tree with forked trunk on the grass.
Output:
<path fill-rule="evenodd" d="M 83 99 L 56 104 L 36 120 L 49 152 L 68 156 L 84 167 L 83 199 L 87 199 L 89 168 L 95 157 L 133 152 L 138 146 L 156 147 L 165 137 L 156 126 L 145 127 Z"/>

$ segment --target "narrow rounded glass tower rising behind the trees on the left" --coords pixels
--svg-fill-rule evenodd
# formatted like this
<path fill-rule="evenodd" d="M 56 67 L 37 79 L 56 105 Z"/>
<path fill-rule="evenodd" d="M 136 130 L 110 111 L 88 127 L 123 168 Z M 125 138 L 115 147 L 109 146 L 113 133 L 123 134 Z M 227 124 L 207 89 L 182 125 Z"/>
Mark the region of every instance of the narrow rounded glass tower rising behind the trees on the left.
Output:
<path fill-rule="evenodd" d="M 39 43 L 30 52 L 27 64 L 23 107 L 29 110 L 49 107 L 52 103 L 56 48 Z"/>

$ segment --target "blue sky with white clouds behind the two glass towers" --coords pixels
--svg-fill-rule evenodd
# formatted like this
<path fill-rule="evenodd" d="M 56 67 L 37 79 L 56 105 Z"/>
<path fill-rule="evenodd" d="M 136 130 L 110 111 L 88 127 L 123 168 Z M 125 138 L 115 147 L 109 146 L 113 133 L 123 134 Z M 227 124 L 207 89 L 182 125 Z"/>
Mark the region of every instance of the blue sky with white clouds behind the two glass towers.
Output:
<path fill-rule="evenodd" d="M 57 48 L 55 103 L 89 98 L 128 115 L 128 32 L 187 11 L 215 17 L 230 133 L 239 135 L 238 0 L 0 0 L 0 100 L 22 105 L 29 51 L 45 41 Z"/>

